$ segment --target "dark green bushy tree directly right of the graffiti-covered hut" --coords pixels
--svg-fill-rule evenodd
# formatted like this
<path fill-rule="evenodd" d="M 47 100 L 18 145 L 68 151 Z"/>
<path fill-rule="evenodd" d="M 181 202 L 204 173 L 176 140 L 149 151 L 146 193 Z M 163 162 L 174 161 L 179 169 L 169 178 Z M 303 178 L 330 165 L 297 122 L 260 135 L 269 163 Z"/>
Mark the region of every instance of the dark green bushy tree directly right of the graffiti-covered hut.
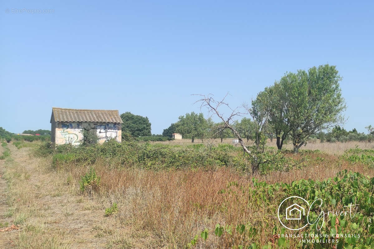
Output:
<path fill-rule="evenodd" d="M 147 117 L 134 115 L 131 112 L 121 114 L 122 132 L 129 133 L 132 136 L 151 136 L 151 123 Z"/>

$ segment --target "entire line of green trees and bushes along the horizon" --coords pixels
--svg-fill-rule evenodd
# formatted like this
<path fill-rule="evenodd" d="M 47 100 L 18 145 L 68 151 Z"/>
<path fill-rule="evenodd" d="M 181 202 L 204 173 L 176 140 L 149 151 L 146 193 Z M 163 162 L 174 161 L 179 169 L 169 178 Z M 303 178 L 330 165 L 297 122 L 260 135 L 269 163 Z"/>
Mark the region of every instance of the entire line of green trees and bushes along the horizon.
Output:
<path fill-rule="evenodd" d="M 148 117 L 125 112 L 120 115 L 123 121 L 122 135 L 135 138 L 154 136 L 157 137 L 154 141 L 163 141 L 158 139 L 162 136 L 171 138 L 172 133 L 180 133 L 183 138 L 191 139 L 191 142 L 195 138 L 202 141 L 220 138 L 222 142 L 224 138 L 235 137 L 246 139 L 247 142 L 253 140 L 257 146 L 269 138 L 276 139 L 278 150 L 282 149 L 285 142 L 292 142 L 295 153 L 310 139 L 319 139 L 321 142 L 371 142 L 374 140 L 373 126 L 365 127 L 367 134 L 358 133 L 356 129 L 347 131 L 341 127 L 346 121 L 342 115 L 346 103 L 341 95 L 341 79 L 336 67 L 328 64 L 307 71 L 285 73 L 272 86 L 259 92 L 250 104 L 242 105 L 248 117 L 240 121 L 237 113 L 233 113 L 228 120 L 223 119 L 218 107 L 228 104 L 216 102 L 209 95 L 204 96 L 199 100 L 202 106 L 214 111 L 213 114 L 217 114 L 222 122 L 215 123 L 210 117 L 205 118 L 202 113 L 192 111 L 179 116 L 178 121 L 164 129 L 162 135 L 151 134 Z M 217 109 L 211 103 L 217 104 Z M 24 133 L 50 135 L 49 130 L 42 129 L 25 130 Z"/>

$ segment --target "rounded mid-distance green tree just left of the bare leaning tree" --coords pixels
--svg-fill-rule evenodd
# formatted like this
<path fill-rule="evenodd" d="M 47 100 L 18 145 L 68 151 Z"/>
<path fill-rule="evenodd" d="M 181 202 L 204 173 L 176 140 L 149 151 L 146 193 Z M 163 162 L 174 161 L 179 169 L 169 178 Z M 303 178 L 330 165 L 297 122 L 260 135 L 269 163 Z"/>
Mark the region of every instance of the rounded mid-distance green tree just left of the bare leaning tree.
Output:
<path fill-rule="evenodd" d="M 194 142 L 195 138 L 204 141 L 204 138 L 209 135 L 211 124 L 211 120 L 206 120 L 202 113 L 191 112 L 186 113 L 186 116 L 180 116 L 175 126 L 178 133 L 184 138 L 191 138 L 191 142 Z"/>

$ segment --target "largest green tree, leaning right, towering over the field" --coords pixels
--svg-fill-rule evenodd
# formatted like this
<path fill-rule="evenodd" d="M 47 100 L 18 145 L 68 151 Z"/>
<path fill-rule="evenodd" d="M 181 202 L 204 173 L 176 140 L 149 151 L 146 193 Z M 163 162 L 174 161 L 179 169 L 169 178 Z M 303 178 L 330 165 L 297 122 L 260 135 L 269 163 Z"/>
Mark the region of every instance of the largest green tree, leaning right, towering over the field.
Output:
<path fill-rule="evenodd" d="M 327 64 L 318 68 L 312 67 L 308 71 L 286 73 L 274 84 L 270 100 L 269 94 L 261 93 L 263 95 L 260 98 L 266 100 L 258 101 L 261 103 L 260 107 L 269 114 L 275 129 L 282 130 L 282 137 L 291 137 L 294 153 L 298 152 L 311 135 L 344 122 L 341 113 L 346 109 L 346 105 L 341 96 L 340 80 L 335 66 Z M 272 101 L 274 99 L 276 101 Z M 278 100 L 280 102 L 277 104 Z M 275 108 L 278 113 L 272 116 L 264 107 L 267 103 L 272 103 L 271 106 L 279 105 Z M 279 131 L 277 145 L 278 136 Z"/>

